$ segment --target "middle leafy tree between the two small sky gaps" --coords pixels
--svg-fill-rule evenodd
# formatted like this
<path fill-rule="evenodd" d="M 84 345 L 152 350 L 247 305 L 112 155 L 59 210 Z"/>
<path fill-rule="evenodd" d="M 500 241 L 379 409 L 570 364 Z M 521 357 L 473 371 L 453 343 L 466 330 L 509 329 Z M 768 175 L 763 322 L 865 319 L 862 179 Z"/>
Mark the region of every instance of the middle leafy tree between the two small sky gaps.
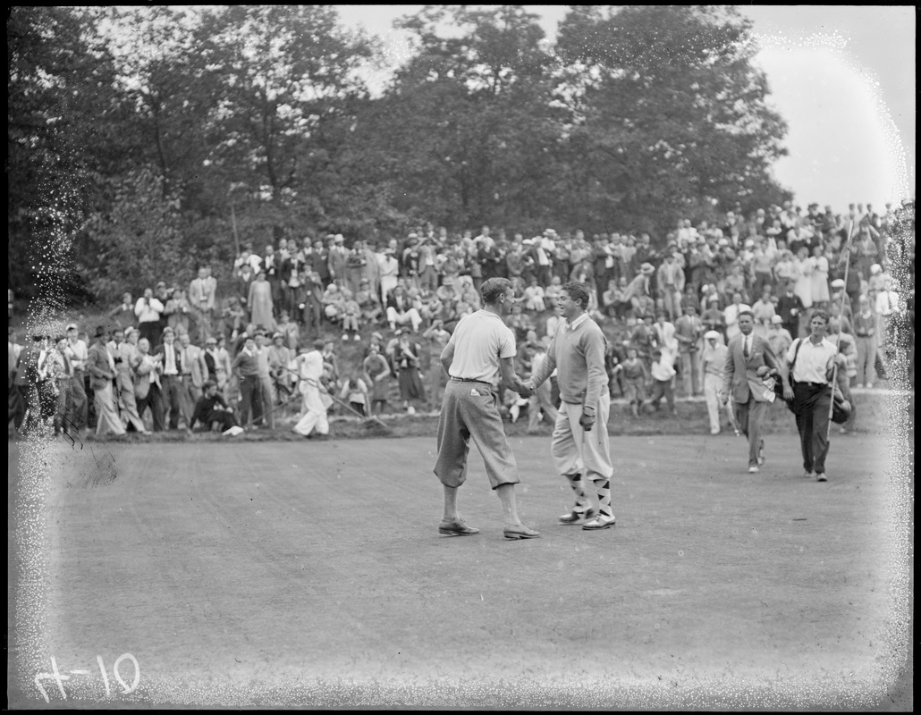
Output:
<path fill-rule="evenodd" d="M 396 207 L 445 225 L 541 216 L 558 128 L 537 17 L 428 6 L 399 25 L 418 51 L 381 99 L 379 166 Z"/>

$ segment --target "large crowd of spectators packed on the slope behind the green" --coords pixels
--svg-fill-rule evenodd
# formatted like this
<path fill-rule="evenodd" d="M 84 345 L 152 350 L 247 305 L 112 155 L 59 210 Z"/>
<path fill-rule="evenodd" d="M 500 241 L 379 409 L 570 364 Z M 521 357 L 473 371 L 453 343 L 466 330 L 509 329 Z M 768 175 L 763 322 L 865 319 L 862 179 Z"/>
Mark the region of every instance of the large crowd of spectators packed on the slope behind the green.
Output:
<path fill-rule="evenodd" d="M 36 336 L 20 354 L 11 332 L 11 418 L 25 411 L 25 397 L 14 404 L 14 383 L 38 381 L 53 396 L 41 413 L 55 430 L 273 427 L 278 409 L 297 406 L 299 364 L 318 339 L 330 404 L 380 413 L 398 386 L 399 409 L 437 409 L 445 379 L 438 355 L 493 276 L 516 287 L 507 323 L 525 373 L 560 319 L 562 285 L 588 284 L 590 314 L 609 339 L 612 397 L 627 398 L 634 414 L 644 404 L 658 409 L 662 398 L 674 410 L 674 392 L 703 395 L 714 369 L 705 335 L 727 343 L 745 308 L 776 354 L 805 334 L 810 310 L 826 309 L 853 385 L 872 387 L 885 375 L 881 348 L 895 344 L 893 333 L 914 330 L 914 237 L 907 246 L 892 241 L 893 219 L 889 205 L 836 214 L 785 202 L 748 216 L 730 211 L 716 223 L 682 219 L 657 241 L 550 228 L 494 235 L 488 226 L 451 235 L 431 225 L 376 246 L 338 234 L 282 238 L 242 250 L 230 284 L 219 286 L 202 266 L 188 286 L 160 282 L 136 301 L 124 294 L 93 340 L 69 325 L 59 336 Z M 894 289 L 893 260 L 912 264 L 904 294 Z M 349 342 L 358 345 L 339 364 L 337 343 L 342 350 Z M 549 411 L 533 398 L 502 397 L 510 419 L 530 404 L 532 426 Z M 100 398 L 117 403 L 118 419 Z"/>

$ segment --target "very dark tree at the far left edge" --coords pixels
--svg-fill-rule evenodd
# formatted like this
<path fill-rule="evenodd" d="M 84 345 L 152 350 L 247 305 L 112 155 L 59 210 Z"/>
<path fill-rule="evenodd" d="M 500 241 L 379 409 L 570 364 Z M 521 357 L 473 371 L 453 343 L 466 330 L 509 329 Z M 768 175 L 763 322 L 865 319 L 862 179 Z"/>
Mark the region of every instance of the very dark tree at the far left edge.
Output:
<path fill-rule="evenodd" d="M 9 285 L 58 305 L 79 291 L 68 271 L 95 182 L 117 163 L 123 106 L 111 56 L 90 18 L 66 7 L 9 10 L 7 236 Z"/>

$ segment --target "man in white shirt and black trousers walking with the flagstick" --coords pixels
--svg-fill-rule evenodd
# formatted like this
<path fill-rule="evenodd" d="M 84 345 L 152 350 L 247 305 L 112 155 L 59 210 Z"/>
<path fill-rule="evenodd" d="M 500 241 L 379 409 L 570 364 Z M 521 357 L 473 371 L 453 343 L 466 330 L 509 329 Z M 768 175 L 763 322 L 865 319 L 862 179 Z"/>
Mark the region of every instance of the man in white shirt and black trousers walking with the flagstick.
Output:
<path fill-rule="evenodd" d="M 794 340 L 787 350 L 790 368 L 782 373 L 784 398 L 793 400 L 806 477 L 827 481 L 825 457 L 828 456 L 828 419 L 832 400 L 830 381 L 838 351 L 833 342 L 825 339 L 828 314 L 823 310 L 813 311 L 809 322 L 809 338 Z M 792 387 L 787 380 L 789 371 L 793 373 Z"/>

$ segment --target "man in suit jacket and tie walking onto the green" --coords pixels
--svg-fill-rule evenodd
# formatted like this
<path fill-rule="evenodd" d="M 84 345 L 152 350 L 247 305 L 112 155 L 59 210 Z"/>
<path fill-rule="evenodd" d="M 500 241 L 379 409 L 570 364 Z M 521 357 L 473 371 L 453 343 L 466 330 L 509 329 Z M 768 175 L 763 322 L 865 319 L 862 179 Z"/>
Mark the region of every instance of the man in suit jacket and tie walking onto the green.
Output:
<path fill-rule="evenodd" d="M 748 306 L 740 310 L 738 325 L 740 334 L 729 340 L 720 399 L 725 405 L 731 395 L 735 403 L 736 422 L 749 441 L 749 474 L 755 474 L 764 464 L 761 423 L 775 398 L 774 390 L 758 376 L 758 368 L 766 365 L 776 370 L 780 364 L 767 340 L 754 334 L 754 316 Z"/>

